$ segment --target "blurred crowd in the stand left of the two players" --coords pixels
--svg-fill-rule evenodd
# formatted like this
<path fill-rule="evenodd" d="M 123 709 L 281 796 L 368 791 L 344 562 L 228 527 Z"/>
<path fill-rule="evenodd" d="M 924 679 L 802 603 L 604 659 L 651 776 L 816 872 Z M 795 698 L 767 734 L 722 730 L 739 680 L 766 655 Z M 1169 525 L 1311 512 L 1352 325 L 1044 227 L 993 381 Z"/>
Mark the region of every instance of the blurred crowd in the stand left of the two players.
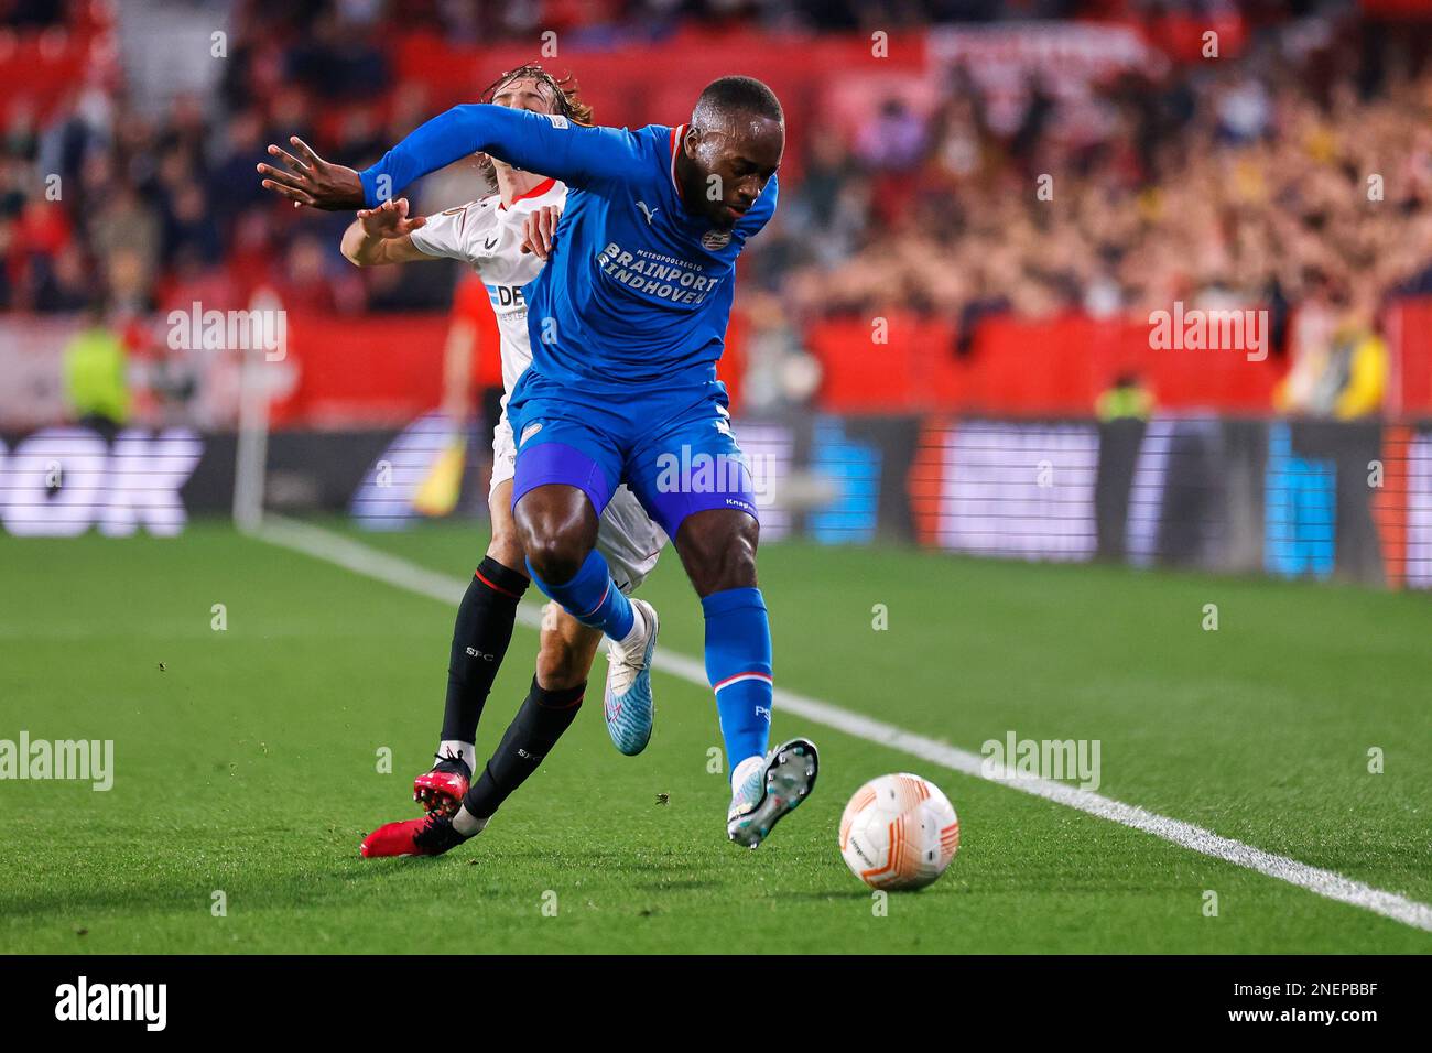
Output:
<path fill-rule="evenodd" d="M 400 92 L 390 126 L 354 120 L 325 142 L 311 95 L 289 79 L 288 63 L 308 62 L 321 63 L 279 43 L 241 47 L 218 103 L 180 95 L 158 117 L 117 74 L 77 86 L 43 126 L 16 107 L 0 152 L 0 308 L 74 311 L 96 291 L 119 314 L 241 307 L 261 287 L 294 308 L 444 307 L 441 282 L 398 269 L 361 282 L 335 252 L 348 218 L 298 222 L 261 189 L 253 166 L 269 142 L 296 133 L 374 158 L 431 116 L 421 93 Z"/>

